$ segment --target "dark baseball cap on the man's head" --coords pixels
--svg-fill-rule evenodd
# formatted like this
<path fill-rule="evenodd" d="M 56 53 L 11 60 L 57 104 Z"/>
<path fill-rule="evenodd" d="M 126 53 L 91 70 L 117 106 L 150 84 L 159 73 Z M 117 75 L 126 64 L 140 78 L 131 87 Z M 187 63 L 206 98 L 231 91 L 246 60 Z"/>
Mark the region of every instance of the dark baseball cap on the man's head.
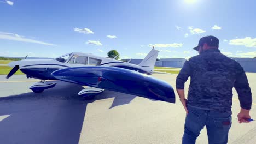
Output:
<path fill-rule="evenodd" d="M 219 39 L 212 35 L 208 35 L 208 36 L 202 37 L 199 40 L 198 45 L 196 47 L 194 47 L 193 49 L 198 51 L 199 47 L 205 43 L 208 44 L 209 46 L 216 46 L 217 48 L 219 47 Z"/>

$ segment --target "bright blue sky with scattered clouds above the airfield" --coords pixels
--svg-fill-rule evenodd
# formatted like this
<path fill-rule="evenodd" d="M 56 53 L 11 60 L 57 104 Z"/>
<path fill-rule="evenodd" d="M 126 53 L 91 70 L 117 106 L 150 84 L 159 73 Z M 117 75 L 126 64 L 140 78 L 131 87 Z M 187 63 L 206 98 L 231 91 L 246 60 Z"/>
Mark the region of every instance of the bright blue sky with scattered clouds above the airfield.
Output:
<path fill-rule="evenodd" d="M 0 0 L 0 56 L 57 57 L 68 52 L 189 58 L 205 35 L 230 57 L 256 56 L 256 1 Z"/>

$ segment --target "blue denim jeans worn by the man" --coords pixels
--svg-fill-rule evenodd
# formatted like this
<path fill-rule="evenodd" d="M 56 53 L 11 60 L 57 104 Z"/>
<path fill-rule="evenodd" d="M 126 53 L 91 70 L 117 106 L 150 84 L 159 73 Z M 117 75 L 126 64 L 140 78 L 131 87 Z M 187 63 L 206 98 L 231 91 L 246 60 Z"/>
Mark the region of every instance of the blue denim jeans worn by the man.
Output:
<path fill-rule="evenodd" d="M 206 126 L 208 143 L 228 143 L 231 127 L 231 112 L 202 110 L 187 105 L 188 115 L 185 119 L 182 143 L 195 143 L 200 131 Z"/>

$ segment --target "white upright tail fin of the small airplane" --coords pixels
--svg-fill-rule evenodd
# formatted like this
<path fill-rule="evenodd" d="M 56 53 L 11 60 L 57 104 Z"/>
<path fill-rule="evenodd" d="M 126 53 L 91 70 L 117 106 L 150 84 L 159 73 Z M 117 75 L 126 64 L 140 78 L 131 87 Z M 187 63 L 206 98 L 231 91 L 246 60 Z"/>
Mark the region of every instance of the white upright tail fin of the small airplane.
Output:
<path fill-rule="evenodd" d="M 158 57 L 158 50 L 155 50 L 154 47 L 153 49 L 148 53 L 148 55 L 142 60 L 141 63 L 138 65 L 141 67 L 144 67 L 144 69 L 148 71 L 153 71 L 156 58 Z"/>

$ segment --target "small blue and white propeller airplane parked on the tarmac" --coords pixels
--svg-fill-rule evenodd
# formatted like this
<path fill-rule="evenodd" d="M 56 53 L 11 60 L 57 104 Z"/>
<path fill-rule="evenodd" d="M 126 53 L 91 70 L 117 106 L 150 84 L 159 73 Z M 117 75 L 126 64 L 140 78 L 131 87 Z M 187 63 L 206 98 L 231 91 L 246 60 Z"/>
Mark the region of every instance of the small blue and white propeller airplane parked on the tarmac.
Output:
<path fill-rule="evenodd" d="M 55 59 L 22 59 L 8 64 L 13 69 L 6 79 L 20 69 L 27 78 L 41 80 L 30 86 L 34 93 L 57 84 L 45 80 L 61 80 L 89 86 L 78 93 L 88 99 L 108 89 L 174 103 L 173 88 L 167 82 L 148 76 L 155 72 L 158 52 L 153 47 L 138 65 L 82 52 L 67 53 Z"/>

